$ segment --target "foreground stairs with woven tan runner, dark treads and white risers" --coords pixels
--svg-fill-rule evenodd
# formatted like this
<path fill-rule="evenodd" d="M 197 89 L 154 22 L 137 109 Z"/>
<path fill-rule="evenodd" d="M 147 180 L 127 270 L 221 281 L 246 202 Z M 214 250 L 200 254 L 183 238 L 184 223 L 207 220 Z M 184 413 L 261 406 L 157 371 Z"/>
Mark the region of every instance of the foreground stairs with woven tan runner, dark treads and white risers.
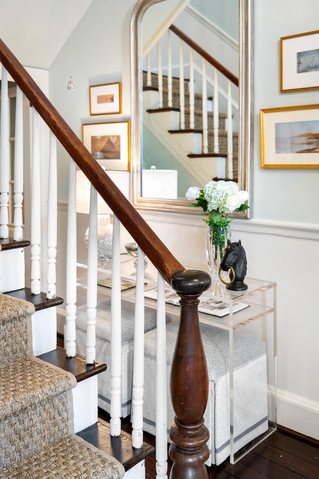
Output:
<path fill-rule="evenodd" d="M 11 264 L 21 252 L 24 256 L 21 247 L 28 247 L 29 241 L 8 238 L 0 244 L 3 266 L 6 255 Z M 144 460 L 154 451 L 150 445 L 144 443 L 139 451 L 128 453 L 131 438 L 122 432 L 114 448 L 103 420 L 74 434 L 78 408 L 74 392 L 79 383 L 87 383 L 107 366 L 98 361 L 88 365 L 80 355 L 66 359 L 65 350 L 56 347 L 56 329 L 48 322 L 53 312 L 56 323 L 54 310 L 63 299 L 48 300 L 45 293 L 33 295 L 25 287 L 6 291 L 5 285 L 14 286 L 14 281 L 3 270 L 1 279 L 0 478 L 144 477 Z M 15 281 L 23 285 L 23 275 Z M 54 349 L 47 351 L 54 343 Z M 34 348 L 41 354 L 35 356 Z"/>

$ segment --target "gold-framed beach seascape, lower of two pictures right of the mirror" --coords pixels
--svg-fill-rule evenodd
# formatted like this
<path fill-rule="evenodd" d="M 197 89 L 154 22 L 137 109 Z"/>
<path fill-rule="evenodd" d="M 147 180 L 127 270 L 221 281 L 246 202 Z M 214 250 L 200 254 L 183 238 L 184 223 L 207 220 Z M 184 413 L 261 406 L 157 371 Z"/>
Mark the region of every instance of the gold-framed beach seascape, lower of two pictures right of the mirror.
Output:
<path fill-rule="evenodd" d="M 260 110 L 262 168 L 319 168 L 319 105 Z"/>

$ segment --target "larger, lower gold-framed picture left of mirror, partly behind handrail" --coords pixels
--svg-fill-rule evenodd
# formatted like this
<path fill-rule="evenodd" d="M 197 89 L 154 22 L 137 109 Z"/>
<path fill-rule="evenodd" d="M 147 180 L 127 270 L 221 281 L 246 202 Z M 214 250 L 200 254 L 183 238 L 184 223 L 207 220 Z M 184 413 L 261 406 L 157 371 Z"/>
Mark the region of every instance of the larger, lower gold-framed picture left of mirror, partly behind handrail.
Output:
<path fill-rule="evenodd" d="M 82 125 L 83 143 L 106 170 L 130 171 L 130 121 Z"/>

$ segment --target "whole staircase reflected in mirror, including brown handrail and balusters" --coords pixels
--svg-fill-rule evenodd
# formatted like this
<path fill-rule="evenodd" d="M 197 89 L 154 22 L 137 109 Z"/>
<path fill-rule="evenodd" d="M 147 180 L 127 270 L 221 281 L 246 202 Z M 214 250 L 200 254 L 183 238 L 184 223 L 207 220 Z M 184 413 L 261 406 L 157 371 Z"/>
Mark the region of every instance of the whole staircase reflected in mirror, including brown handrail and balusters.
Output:
<path fill-rule="evenodd" d="M 144 62 L 144 126 L 198 185 L 212 178 L 237 181 L 238 124 L 234 121 L 231 83 L 238 87 L 238 79 L 174 25 L 163 36 L 167 37 L 167 64 L 161 58 L 160 40 L 153 48 L 157 53 L 151 50 Z M 182 44 L 190 47 L 187 59 Z M 201 68 L 195 64 L 193 52 L 199 54 Z M 213 79 L 206 73 L 206 63 L 215 69 Z M 187 74 L 188 79 L 184 79 Z M 201 75 L 201 84 L 195 75 Z M 227 84 L 226 80 L 228 91 L 224 92 L 220 84 Z"/>

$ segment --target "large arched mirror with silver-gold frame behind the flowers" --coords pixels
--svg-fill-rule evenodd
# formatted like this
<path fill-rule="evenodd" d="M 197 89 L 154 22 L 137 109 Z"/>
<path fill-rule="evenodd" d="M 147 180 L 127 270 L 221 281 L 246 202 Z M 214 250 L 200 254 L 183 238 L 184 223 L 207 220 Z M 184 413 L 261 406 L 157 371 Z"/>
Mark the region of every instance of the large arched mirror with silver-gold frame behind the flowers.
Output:
<path fill-rule="evenodd" d="M 195 11 L 191 5 L 196 0 L 138 0 L 131 19 L 131 165 L 133 203 L 137 208 L 194 213 L 185 198 L 188 187 L 203 188 L 211 179 L 218 178 L 237 181 L 240 190 L 248 191 L 249 210 L 232 216 L 252 216 L 252 2 L 239 0 L 235 19 L 238 66 L 233 74 L 208 51 L 212 47 L 210 42 L 203 48 L 191 38 L 189 23 L 184 29 L 187 34 L 175 25 L 185 5 L 190 12 Z M 213 3 L 217 5 L 218 1 Z M 207 2 L 204 4 L 207 8 Z M 152 8 L 157 21 L 154 15 L 152 19 Z M 204 15 L 205 12 L 198 15 L 199 21 Z M 153 31 L 147 25 L 153 25 Z M 153 56 L 152 47 L 156 49 Z M 178 60 L 172 59 L 173 55 Z M 176 68 L 177 63 L 182 67 Z M 171 86 L 174 81 L 178 85 Z M 176 90 L 179 98 L 185 98 L 178 105 L 172 100 Z M 196 124 L 198 98 L 202 105 L 200 124 Z M 157 115 L 163 112 L 168 117 L 167 128 Z M 217 134 L 214 125 L 219 125 Z M 164 130 L 164 134 L 158 133 L 159 130 Z M 169 139 L 165 143 L 166 137 Z M 171 137 L 174 137 L 173 147 L 168 144 Z M 184 147 L 187 160 L 182 164 Z"/>

